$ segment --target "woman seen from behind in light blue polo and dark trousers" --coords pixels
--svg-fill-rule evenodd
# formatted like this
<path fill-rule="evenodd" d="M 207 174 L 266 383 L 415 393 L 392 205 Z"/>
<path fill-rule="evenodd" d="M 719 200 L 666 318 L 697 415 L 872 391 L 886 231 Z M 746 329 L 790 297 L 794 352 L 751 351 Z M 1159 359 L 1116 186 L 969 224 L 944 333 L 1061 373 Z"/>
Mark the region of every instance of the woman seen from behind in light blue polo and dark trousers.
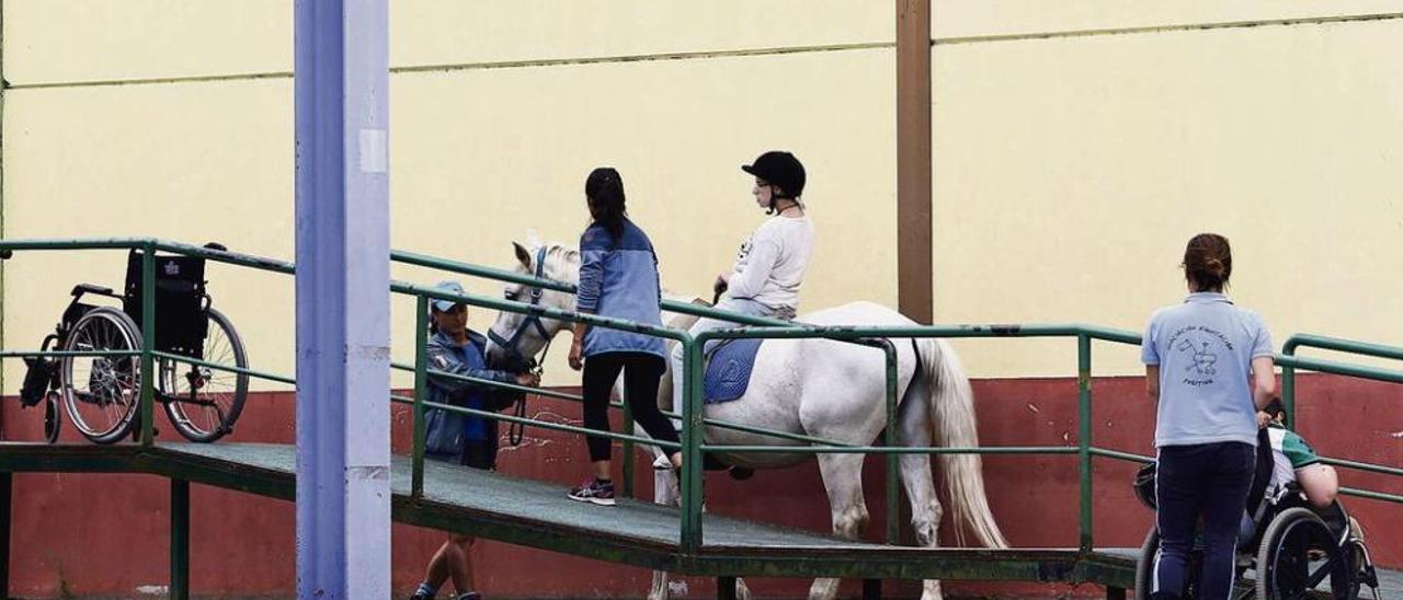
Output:
<path fill-rule="evenodd" d="M 1198 597 L 1216 600 L 1233 586 L 1237 524 L 1256 465 L 1256 415 L 1277 380 L 1267 325 L 1223 294 L 1232 276 L 1228 238 L 1194 236 L 1183 268 L 1188 297 L 1157 310 L 1141 345 L 1145 387 L 1157 402 L 1160 551 L 1150 599 L 1181 596 L 1186 557 L 1202 521 Z"/>

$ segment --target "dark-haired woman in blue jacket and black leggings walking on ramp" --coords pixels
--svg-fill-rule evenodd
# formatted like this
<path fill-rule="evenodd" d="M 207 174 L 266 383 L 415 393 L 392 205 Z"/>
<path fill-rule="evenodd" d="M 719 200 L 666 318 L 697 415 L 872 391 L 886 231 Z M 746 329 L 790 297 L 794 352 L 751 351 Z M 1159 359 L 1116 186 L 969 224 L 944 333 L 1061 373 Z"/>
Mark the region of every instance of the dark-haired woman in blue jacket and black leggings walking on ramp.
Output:
<path fill-rule="evenodd" d="M 575 310 L 600 317 L 624 318 L 648 325 L 662 325 L 658 303 L 658 255 L 652 241 L 629 220 L 624 207 L 623 179 L 619 171 L 600 167 L 585 179 L 585 200 L 592 221 L 579 237 L 579 287 Z M 648 436 L 676 442 L 678 432 L 658 411 L 658 381 L 666 369 L 665 342 L 661 338 L 627 331 L 575 325 L 570 346 L 571 369 L 584 369 L 585 426 L 609 430 L 609 394 L 623 371 L 624 400 L 634 421 Z M 610 440 L 586 436 L 593 477 L 570 491 L 579 502 L 613 506 L 615 489 Z M 673 451 L 672 465 L 682 465 L 682 453 Z"/>

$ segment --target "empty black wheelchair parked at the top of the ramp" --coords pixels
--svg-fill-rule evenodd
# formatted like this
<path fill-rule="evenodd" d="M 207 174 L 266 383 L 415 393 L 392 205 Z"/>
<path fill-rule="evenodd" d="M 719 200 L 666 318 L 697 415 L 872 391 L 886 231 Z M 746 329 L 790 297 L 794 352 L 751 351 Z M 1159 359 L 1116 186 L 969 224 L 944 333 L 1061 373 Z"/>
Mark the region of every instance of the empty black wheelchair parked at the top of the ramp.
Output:
<path fill-rule="evenodd" d="M 220 244 L 206 248 L 223 251 Z M 142 250 L 126 259 L 122 293 L 79 283 L 73 300 L 53 334 L 39 349 L 74 352 L 58 359 L 25 359 L 28 373 L 21 388 L 25 407 L 45 405 L 45 437 L 59 437 L 62 412 L 84 437 L 109 444 L 139 430 L 142 356 L 91 356 L 86 352 L 140 352 L 142 349 Z M 171 425 L 191 442 L 213 442 L 233 430 L 248 395 L 246 373 L 206 367 L 248 367 L 243 339 L 223 313 L 210 307 L 205 290 L 205 259 L 156 255 L 154 357 L 156 401 L 166 407 Z M 121 308 L 84 303 L 86 296 L 121 300 Z M 60 411 L 59 405 L 63 405 Z"/>

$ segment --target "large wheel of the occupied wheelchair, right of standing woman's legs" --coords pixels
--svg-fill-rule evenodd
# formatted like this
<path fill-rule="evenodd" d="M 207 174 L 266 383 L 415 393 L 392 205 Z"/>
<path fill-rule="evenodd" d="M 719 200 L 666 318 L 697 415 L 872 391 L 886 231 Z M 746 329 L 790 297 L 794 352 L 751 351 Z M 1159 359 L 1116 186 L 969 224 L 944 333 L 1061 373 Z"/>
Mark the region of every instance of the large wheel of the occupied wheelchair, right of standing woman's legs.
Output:
<path fill-rule="evenodd" d="M 1330 527 L 1305 507 L 1277 514 L 1257 550 L 1257 599 L 1313 597 L 1329 580 L 1334 597 L 1350 597 L 1350 559 Z"/>

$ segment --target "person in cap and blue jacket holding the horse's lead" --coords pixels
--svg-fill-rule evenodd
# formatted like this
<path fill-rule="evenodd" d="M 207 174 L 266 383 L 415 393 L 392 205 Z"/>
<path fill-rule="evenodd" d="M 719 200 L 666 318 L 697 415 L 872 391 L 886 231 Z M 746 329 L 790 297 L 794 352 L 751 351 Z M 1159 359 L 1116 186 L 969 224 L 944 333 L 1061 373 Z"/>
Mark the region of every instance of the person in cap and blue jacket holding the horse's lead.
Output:
<path fill-rule="evenodd" d="M 457 282 L 442 282 L 438 289 L 448 293 L 462 294 L 463 286 Z M 428 353 L 428 401 L 449 404 L 455 407 L 476 408 L 480 411 L 495 411 L 502 404 L 501 393 L 449 377 L 452 373 L 466 377 L 477 377 L 490 381 L 515 383 L 518 386 L 539 386 L 540 377 L 532 373 L 508 373 L 488 369 L 484 346 L 487 341 L 481 334 L 467 328 L 467 304 L 457 304 L 449 300 L 434 300 L 429 303 L 429 317 L 432 318 L 432 336 L 425 352 Z M 511 393 L 506 393 L 508 395 Z M 463 464 L 485 471 L 497 470 L 497 421 L 481 416 L 449 412 L 441 408 L 429 408 L 424 412 L 425 439 L 424 456 L 431 460 Z M 432 599 L 438 589 L 449 579 L 457 590 L 459 600 L 477 600 L 481 596 L 473 592 L 473 561 L 469 552 L 473 538 L 463 534 L 449 534 L 449 540 L 439 547 L 429 561 L 424 573 L 424 582 L 411 599 Z"/>

